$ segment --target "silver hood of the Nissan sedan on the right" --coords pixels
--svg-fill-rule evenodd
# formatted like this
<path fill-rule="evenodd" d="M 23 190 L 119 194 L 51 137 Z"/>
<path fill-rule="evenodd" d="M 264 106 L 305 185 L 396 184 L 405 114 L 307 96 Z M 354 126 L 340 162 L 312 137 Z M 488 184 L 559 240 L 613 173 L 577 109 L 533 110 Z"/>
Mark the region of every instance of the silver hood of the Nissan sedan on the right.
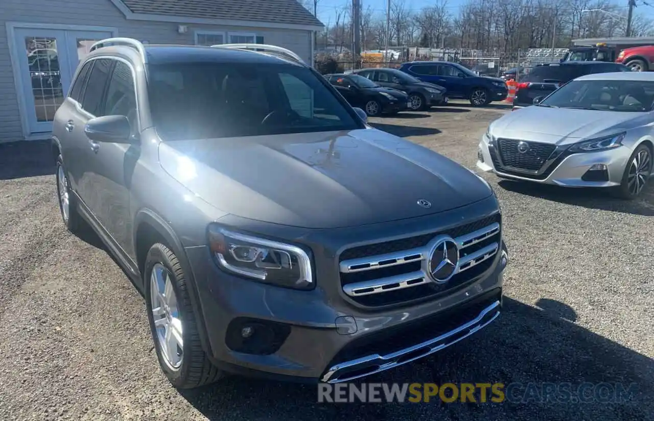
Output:
<path fill-rule="evenodd" d="M 497 119 L 490 125 L 495 137 L 566 144 L 581 138 L 617 134 L 647 119 L 647 113 L 575 110 L 528 106 Z M 651 118 L 651 117 L 650 117 Z"/>

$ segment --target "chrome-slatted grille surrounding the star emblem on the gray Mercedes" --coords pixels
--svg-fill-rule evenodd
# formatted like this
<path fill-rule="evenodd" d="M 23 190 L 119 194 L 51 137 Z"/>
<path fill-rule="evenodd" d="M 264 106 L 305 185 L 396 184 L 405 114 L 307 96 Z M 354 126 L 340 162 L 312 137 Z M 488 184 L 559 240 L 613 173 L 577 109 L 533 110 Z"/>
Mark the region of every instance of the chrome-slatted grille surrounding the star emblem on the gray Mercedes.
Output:
<path fill-rule="evenodd" d="M 406 302 L 458 287 L 485 272 L 500 249 L 500 215 L 451 230 L 359 246 L 344 251 L 339 262 L 345 294 L 362 305 L 378 306 Z M 459 266 L 446 283 L 436 283 L 428 272 L 432 240 L 440 234 L 454 238 Z M 412 247 L 400 249 L 400 245 Z M 389 251 L 390 250 L 390 251 Z M 366 251 L 375 253 L 363 255 Z M 342 260 L 343 256 L 358 257 Z"/>

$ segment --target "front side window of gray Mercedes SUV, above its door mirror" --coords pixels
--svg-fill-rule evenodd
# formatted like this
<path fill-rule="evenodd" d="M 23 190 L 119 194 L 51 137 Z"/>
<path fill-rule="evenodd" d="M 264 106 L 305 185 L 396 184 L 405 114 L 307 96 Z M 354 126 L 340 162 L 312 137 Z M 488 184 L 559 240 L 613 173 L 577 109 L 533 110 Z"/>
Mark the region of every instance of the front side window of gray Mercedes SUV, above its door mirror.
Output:
<path fill-rule="evenodd" d="M 103 107 L 105 116 L 128 117 L 132 127 L 136 125 L 136 95 L 131 69 L 122 61 L 116 61 L 107 87 L 107 100 Z"/>

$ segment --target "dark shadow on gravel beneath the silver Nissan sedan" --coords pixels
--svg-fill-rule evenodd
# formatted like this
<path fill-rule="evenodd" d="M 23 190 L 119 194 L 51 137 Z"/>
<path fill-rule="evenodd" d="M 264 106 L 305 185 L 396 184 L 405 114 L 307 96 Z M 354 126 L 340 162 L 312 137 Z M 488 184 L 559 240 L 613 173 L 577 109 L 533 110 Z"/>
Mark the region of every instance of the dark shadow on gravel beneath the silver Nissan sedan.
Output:
<path fill-rule="evenodd" d="M 641 196 L 634 200 L 622 200 L 610 195 L 606 189 L 566 188 L 549 184 L 530 183 L 500 179 L 498 185 L 507 191 L 540 197 L 545 200 L 583 206 L 589 209 L 606 210 L 632 215 L 654 216 L 654 182 L 645 186 Z"/>

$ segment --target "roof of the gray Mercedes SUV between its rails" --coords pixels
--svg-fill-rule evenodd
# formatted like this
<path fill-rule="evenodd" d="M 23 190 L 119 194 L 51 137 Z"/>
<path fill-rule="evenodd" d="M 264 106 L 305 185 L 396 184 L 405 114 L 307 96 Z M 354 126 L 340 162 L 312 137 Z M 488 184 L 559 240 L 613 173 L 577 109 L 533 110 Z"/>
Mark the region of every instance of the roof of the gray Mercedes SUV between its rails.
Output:
<path fill-rule="evenodd" d="M 213 63 L 291 64 L 297 63 L 254 51 L 215 48 L 209 46 L 145 45 L 149 64 L 207 61 Z"/>

